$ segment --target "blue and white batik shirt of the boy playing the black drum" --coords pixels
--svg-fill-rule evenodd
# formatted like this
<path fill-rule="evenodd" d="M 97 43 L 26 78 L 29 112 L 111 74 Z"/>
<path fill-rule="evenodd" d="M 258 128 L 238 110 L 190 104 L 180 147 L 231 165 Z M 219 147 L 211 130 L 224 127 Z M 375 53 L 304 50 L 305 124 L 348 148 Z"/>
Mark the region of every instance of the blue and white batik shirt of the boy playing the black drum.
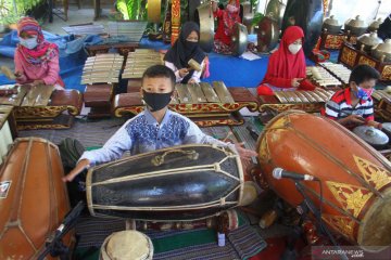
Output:
<path fill-rule="evenodd" d="M 119 159 L 127 151 L 135 155 L 191 143 L 230 146 L 236 151 L 234 144 L 203 133 L 194 122 L 178 113 L 167 109 L 159 123 L 152 114 L 144 109 L 124 123 L 102 148 L 85 152 L 80 160 L 88 159 L 93 166 Z"/>

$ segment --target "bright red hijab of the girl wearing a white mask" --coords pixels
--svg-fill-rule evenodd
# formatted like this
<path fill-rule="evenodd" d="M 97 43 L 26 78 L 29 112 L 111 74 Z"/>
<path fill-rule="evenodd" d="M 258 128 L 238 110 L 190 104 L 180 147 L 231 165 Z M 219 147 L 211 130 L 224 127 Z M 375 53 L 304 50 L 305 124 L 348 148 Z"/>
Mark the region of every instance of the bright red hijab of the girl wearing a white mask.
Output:
<path fill-rule="evenodd" d="M 303 38 L 303 29 L 299 26 L 289 26 L 283 31 L 278 50 L 269 57 L 267 72 L 262 83 L 267 83 L 270 78 L 305 78 L 305 56 L 303 48 L 297 54 L 292 54 L 288 50 L 289 44 L 298 39 L 304 40 Z"/>

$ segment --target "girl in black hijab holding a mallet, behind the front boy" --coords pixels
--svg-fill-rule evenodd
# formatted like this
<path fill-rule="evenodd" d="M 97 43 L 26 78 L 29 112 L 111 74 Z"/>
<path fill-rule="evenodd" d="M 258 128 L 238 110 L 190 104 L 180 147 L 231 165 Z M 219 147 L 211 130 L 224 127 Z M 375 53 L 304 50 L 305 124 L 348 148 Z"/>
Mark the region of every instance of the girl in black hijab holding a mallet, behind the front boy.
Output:
<path fill-rule="evenodd" d="M 201 72 L 189 68 L 192 58 L 204 67 L 205 53 L 200 48 L 200 27 L 193 22 L 187 22 L 180 29 L 179 37 L 172 49 L 165 54 L 164 63 L 173 69 L 176 81 L 180 83 L 200 82 Z"/>

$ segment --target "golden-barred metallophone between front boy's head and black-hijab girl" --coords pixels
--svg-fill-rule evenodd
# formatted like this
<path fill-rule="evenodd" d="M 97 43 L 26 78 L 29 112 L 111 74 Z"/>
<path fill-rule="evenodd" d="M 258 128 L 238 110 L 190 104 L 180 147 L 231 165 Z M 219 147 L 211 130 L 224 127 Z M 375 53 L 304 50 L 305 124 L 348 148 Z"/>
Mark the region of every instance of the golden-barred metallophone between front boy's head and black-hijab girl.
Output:
<path fill-rule="evenodd" d="M 128 79 L 127 92 L 140 91 L 142 74 L 153 65 L 164 65 L 164 54 L 151 49 L 137 49 L 126 60 L 123 79 Z"/>

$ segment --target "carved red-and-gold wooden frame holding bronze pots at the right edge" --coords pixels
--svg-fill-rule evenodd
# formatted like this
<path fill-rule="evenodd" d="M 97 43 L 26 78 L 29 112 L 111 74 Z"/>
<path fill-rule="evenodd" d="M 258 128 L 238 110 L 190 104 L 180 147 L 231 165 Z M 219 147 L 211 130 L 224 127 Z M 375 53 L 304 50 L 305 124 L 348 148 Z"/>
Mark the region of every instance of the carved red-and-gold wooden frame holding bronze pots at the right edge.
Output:
<path fill-rule="evenodd" d="M 381 46 L 380 46 L 381 44 Z M 386 61 L 387 53 L 390 53 L 391 56 L 391 41 L 386 43 L 378 44 L 378 49 L 371 49 L 371 53 L 368 54 L 365 51 L 356 49 L 354 46 L 349 42 L 343 42 L 341 51 L 338 55 L 338 62 L 342 63 L 349 68 L 353 68 L 360 64 L 367 64 L 374 67 L 380 74 L 380 79 L 382 81 L 391 80 L 391 61 Z M 387 47 L 388 52 L 387 52 Z M 384 53 L 384 54 L 381 54 Z M 381 56 L 379 56 L 381 54 Z M 381 60 L 379 60 L 381 58 Z"/>

